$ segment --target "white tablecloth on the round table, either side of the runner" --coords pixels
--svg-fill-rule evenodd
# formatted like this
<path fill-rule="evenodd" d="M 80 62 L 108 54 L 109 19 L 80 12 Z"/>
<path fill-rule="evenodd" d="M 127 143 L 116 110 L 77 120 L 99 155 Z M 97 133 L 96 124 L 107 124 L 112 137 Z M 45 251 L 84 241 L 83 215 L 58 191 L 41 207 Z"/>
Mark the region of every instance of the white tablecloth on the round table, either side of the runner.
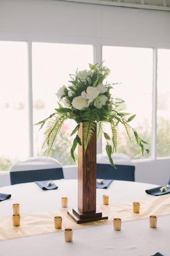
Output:
<path fill-rule="evenodd" d="M 57 190 L 42 191 L 34 183 L 0 188 L 0 193 L 11 193 L 11 199 L 0 202 L 0 216 L 11 215 L 12 203 L 21 204 L 21 214 L 61 208 L 60 199 L 68 196 L 69 207 L 77 206 L 77 180 L 57 180 Z M 145 189 L 153 188 L 136 182 L 113 181 L 107 190 L 97 189 L 97 204 L 108 194 L 110 202 L 138 200 L 150 195 Z M 0 242 L 0 256 L 151 256 L 156 252 L 170 256 L 170 215 L 159 217 L 158 227 L 149 228 L 148 220 L 122 223 L 122 230 L 113 225 L 74 230 L 73 243 L 65 243 L 63 232 L 17 238 Z"/>

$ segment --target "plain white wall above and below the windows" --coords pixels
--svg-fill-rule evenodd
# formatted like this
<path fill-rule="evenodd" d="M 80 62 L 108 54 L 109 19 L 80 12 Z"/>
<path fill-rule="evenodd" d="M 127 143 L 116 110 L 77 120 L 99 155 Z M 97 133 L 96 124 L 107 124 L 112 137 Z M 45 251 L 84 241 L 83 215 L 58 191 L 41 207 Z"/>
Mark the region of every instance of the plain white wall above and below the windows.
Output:
<path fill-rule="evenodd" d="M 0 40 L 170 48 L 170 12 L 55 0 L 0 0 Z M 97 52 L 96 51 L 96 52 Z M 98 61 L 98 60 L 97 60 Z M 65 168 L 66 177 L 76 170 Z M 165 184 L 170 159 L 136 163 L 136 181 Z M 9 175 L 0 175 L 0 186 Z"/>

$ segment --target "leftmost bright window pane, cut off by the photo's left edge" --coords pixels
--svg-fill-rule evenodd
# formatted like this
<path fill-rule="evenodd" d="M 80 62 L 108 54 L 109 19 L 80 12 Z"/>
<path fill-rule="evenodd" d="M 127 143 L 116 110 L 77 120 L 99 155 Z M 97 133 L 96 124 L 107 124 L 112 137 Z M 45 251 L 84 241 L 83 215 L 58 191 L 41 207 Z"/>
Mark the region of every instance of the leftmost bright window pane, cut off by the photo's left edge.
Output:
<path fill-rule="evenodd" d="M 26 42 L 0 42 L 0 170 L 28 157 Z"/>

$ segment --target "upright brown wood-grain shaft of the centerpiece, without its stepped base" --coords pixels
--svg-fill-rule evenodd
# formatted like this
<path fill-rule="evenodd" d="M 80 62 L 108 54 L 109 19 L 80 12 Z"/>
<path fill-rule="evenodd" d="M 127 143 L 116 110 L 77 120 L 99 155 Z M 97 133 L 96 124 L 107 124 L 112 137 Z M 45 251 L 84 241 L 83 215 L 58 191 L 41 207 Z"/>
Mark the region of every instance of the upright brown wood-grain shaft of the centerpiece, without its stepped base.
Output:
<path fill-rule="evenodd" d="M 83 124 L 78 135 L 82 146 L 78 146 L 78 209 L 81 213 L 96 212 L 96 127 L 85 151 Z"/>

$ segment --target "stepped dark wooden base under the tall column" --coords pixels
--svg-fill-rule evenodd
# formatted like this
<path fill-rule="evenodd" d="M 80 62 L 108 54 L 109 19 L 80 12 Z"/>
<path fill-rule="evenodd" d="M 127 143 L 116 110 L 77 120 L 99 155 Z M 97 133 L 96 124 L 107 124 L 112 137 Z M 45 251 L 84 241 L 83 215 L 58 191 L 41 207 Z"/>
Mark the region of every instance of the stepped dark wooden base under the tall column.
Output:
<path fill-rule="evenodd" d="M 68 215 L 77 223 L 87 223 L 96 220 L 108 220 L 108 216 L 103 215 L 102 212 L 83 214 L 78 209 L 69 210 Z"/>

